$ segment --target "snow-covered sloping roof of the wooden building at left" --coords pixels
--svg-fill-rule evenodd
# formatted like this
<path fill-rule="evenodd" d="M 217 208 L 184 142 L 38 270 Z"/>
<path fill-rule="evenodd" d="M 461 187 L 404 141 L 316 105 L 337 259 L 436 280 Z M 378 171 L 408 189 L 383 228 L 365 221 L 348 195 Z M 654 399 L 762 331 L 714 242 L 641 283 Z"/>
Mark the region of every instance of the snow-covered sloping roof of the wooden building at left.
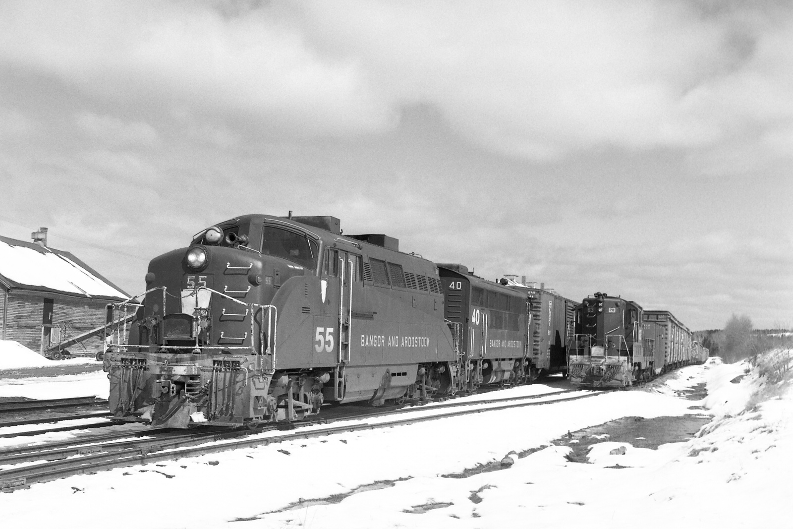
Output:
<path fill-rule="evenodd" d="M 67 251 L 0 236 L 0 286 L 127 299 L 123 290 Z"/>

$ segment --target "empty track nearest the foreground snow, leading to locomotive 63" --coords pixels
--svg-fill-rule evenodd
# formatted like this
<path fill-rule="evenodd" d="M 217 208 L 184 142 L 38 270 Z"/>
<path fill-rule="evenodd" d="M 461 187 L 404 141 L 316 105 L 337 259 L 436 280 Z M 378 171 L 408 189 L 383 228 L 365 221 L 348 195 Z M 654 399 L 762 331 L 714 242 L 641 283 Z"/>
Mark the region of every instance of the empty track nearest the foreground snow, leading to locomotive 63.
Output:
<path fill-rule="evenodd" d="M 568 393 L 577 394 L 569 396 Z M 60 477 L 97 472 L 99 470 L 170 461 L 270 443 L 282 443 L 293 439 L 309 439 L 340 432 L 373 430 L 383 427 L 415 424 L 427 420 L 441 420 L 472 413 L 499 411 L 507 408 L 577 401 L 584 398 L 597 397 L 603 393 L 607 392 L 570 389 L 542 395 L 500 397 L 476 401 L 445 401 L 432 405 L 399 408 L 397 410 L 370 411 L 360 416 L 339 416 L 301 423 L 288 423 L 289 427 L 293 427 L 292 431 L 280 431 L 279 428 L 283 424 L 268 424 L 255 433 L 243 431 L 239 428 L 213 429 L 211 431 L 148 430 L 140 432 L 140 434 L 119 433 L 105 435 L 101 438 L 75 439 L 68 443 L 48 443 L 38 447 L 30 447 L 29 449 L 6 450 L 6 454 L 0 452 L 0 466 L 17 466 L 22 462 L 35 462 L 47 459 L 56 460 L 37 465 L 0 470 L 0 490 L 12 492 L 16 489 L 27 488 L 34 483 L 52 481 Z M 465 409 L 466 407 L 468 409 Z M 408 413 L 413 415 L 404 416 Z M 335 422 L 342 423 L 366 419 L 374 419 L 376 422 L 329 425 Z M 151 435 L 152 433 L 155 434 L 153 438 L 123 440 L 124 437 Z M 239 437 L 243 437 L 243 439 L 235 439 Z M 101 442 L 96 443 L 99 439 L 102 439 Z"/>

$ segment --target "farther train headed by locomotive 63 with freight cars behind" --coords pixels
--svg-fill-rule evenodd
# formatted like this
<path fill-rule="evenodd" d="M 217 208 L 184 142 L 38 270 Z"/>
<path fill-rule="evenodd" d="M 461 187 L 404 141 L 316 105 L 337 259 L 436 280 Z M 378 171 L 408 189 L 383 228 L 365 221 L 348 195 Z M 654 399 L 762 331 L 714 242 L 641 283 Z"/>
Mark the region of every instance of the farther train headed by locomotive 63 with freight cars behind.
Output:
<path fill-rule="evenodd" d="M 668 311 L 642 309 L 605 293 L 576 310 L 569 345 L 570 382 L 584 387 L 626 387 L 695 362 L 691 332 Z"/>

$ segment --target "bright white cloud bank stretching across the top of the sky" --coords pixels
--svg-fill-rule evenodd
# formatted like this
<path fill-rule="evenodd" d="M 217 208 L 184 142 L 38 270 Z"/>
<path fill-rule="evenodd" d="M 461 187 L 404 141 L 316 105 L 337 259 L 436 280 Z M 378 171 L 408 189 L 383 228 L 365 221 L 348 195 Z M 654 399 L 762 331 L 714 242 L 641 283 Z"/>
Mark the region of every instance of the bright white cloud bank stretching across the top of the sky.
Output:
<path fill-rule="evenodd" d="M 491 151 L 546 160 L 604 145 L 710 148 L 748 125 L 793 121 L 784 7 L 6 2 L 3 11 L 3 62 L 94 97 L 232 111 L 298 136 L 384 132 L 406 105 L 426 104 Z"/>

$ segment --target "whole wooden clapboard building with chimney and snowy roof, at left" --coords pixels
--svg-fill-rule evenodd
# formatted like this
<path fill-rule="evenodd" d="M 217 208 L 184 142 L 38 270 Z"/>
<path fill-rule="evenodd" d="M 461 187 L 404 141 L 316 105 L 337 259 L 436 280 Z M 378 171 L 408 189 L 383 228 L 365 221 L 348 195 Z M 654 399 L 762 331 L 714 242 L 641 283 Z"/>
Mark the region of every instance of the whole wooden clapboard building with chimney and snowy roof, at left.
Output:
<path fill-rule="evenodd" d="M 47 246 L 47 228 L 33 242 L 0 236 L 0 338 L 42 354 L 64 340 L 101 327 L 108 303 L 127 293 L 67 251 Z M 69 347 L 102 351 L 102 334 Z"/>

